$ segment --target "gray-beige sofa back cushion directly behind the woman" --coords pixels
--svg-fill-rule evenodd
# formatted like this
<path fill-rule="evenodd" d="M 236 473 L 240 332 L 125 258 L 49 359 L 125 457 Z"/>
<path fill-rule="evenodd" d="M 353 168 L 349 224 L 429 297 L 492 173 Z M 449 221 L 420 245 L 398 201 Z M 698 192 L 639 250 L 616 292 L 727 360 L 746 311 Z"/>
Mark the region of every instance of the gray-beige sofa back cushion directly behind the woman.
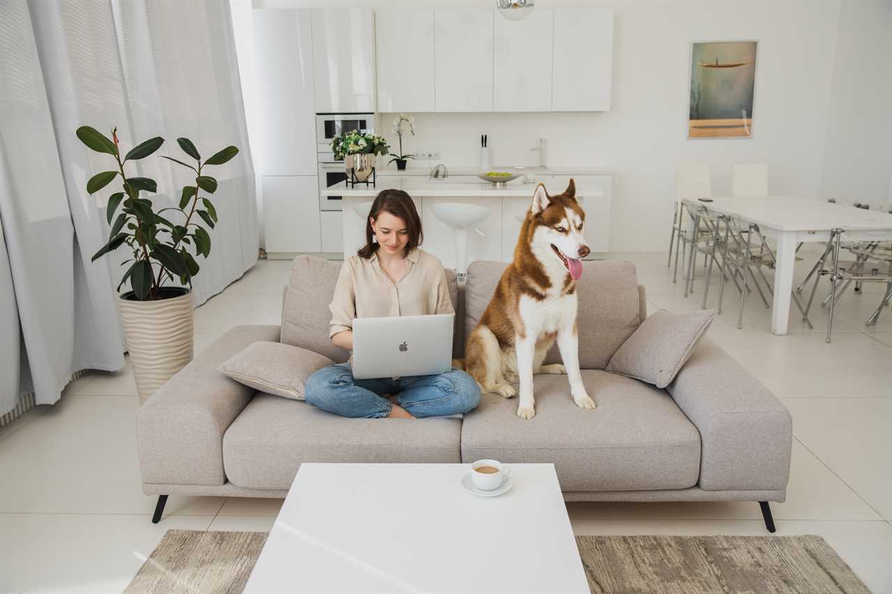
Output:
<path fill-rule="evenodd" d="M 328 305 L 335 294 L 342 264 L 313 256 L 295 258 L 282 310 L 282 342 L 318 352 L 335 363 L 350 359 L 350 352 L 336 347 L 328 337 L 328 322 L 332 318 Z M 462 318 L 458 315 L 458 279 L 455 271 L 449 268 L 446 269 L 446 284 L 452 309 L 457 312 L 453 357 L 461 357 L 464 332 L 461 332 Z"/>

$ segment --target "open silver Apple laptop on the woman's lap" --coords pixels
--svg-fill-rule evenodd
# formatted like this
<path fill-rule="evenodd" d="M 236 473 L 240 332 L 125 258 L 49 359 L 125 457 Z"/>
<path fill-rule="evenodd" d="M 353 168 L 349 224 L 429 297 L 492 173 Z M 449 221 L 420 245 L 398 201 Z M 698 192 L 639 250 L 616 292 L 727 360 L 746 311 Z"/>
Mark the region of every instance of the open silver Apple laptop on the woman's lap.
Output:
<path fill-rule="evenodd" d="M 442 374 L 452 367 L 455 314 L 355 318 L 353 377 Z"/>

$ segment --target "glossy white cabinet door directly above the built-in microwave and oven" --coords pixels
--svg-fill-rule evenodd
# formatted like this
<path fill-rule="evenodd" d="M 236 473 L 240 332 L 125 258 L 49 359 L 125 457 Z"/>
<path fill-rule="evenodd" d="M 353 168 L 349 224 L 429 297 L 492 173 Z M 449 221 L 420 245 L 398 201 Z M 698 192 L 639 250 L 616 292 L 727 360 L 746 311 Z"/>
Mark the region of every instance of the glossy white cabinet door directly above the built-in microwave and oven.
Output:
<path fill-rule="evenodd" d="M 370 9 L 312 11 L 317 113 L 375 111 L 374 23 Z"/>

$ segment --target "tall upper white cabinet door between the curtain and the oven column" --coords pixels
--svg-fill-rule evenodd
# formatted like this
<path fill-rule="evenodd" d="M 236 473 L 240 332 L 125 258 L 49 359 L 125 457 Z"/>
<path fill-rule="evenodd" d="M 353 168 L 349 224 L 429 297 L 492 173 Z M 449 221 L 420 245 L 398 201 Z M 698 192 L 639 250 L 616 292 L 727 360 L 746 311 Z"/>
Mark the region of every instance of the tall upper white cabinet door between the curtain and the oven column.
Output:
<path fill-rule="evenodd" d="M 257 173 L 315 175 L 311 12 L 257 9 L 253 16 L 260 137 L 252 150 Z"/>

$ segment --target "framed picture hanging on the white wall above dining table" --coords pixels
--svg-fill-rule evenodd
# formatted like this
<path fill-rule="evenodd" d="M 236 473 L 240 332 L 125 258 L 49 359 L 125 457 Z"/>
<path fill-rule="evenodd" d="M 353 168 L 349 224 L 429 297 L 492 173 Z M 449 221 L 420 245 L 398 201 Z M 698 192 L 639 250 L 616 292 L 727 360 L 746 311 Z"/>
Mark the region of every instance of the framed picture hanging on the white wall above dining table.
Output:
<path fill-rule="evenodd" d="M 756 41 L 690 46 L 688 138 L 751 138 Z"/>

